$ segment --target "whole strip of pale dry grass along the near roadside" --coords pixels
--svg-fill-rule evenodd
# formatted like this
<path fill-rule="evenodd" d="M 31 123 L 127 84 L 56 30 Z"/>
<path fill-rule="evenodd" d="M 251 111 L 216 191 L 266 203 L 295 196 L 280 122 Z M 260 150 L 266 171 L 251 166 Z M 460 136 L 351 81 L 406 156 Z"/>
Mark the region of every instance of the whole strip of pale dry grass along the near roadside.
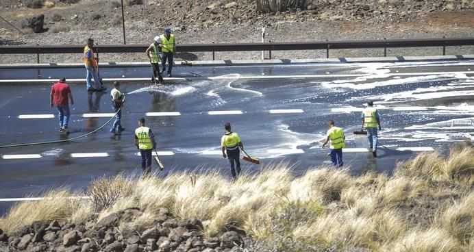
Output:
<path fill-rule="evenodd" d="M 288 164 L 269 164 L 257 175 L 230 181 L 215 171 L 91 182 L 84 201 L 55 190 L 43 201 L 18 203 L 0 220 L 15 234 L 35 220 L 85 223 L 131 208 L 143 214 L 118 229 L 148 227 L 162 207 L 173 218 L 197 218 L 203 236 L 244 231 L 258 250 L 473 251 L 474 147 L 449 154 L 421 153 L 393 175 L 327 166 L 294 177 Z"/>

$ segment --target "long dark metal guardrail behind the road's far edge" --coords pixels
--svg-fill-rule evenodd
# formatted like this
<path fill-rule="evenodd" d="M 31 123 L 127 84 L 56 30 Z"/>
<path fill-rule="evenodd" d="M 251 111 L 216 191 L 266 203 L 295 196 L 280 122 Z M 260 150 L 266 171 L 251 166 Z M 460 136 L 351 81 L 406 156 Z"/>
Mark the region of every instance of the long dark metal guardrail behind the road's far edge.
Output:
<path fill-rule="evenodd" d="M 349 40 L 324 42 L 262 42 L 241 44 L 178 44 L 177 52 L 212 52 L 215 60 L 216 51 L 297 51 L 326 50 L 329 58 L 330 49 L 371 49 L 400 47 L 442 47 L 442 55 L 446 55 L 446 47 L 474 45 L 474 38 L 428 38 L 428 39 L 397 39 L 397 40 Z M 97 45 L 100 53 L 142 53 L 149 45 Z M 36 54 L 38 63 L 40 54 L 51 53 L 82 53 L 84 45 L 49 45 L 49 46 L 0 46 L 0 54 Z"/>

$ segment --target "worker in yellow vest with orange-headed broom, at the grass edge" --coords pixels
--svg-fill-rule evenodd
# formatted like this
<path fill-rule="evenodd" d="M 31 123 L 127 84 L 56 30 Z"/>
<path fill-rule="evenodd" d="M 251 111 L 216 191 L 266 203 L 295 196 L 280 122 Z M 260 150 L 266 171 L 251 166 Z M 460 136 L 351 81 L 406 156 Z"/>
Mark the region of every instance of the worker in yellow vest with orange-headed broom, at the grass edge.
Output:
<path fill-rule="evenodd" d="M 240 140 L 240 136 L 236 132 L 232 132 L 230 123 L 224 124 L 225 128 L 225 135 L 222 136 L 221 139 L 221 148 L 222 148 L 222 156 L 230 162 L 230 172 L 232 173 L 232 178 L 236 179 L 237 176 L 240 174 L 240 151 L 239 148 L 245 153 L 242 157 L 243 160 L 260 164 L 258 158 L 250 157 L 244 151 L 244 144 Z"/>

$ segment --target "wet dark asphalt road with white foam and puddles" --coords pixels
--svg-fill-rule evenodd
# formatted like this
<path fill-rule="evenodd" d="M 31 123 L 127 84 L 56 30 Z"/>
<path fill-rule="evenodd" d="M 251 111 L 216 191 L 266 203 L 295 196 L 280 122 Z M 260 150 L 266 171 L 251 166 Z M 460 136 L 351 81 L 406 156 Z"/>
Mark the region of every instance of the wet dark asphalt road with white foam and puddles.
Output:
<path fill-rule="evenodd" d="M 57 112 L 49 107 L 51 82 L 28 79 L 84 78 L 84 72 L 0 69 L 0 145 L 65 139 L 58 133 Z M 122 118 L 126 130 L 121 136 L 109 133 L 110 123 L 71 142 L 1 148 L 0 198 L 34 196 L 60 186 L 84 189 L 101 175 L 139 174 L 133 139 L 141 116 L 157 137 L 166 166 L 159 174 L 164 176 L 206 169 L 230 176 L 220 154 L 225 122 L 232 123 L 248 153 L 260 158 L 260 165 L 242 162 L 249 173 L 280 162 L 292 166 L 296 175 L 327 165 L 327 149 L 320 145 L 328 119 L 345 129 L 344 162 L 354 174 L 390 173 L 397 162 L 419 151 L 447 151 L 452 142 L 474 136 L 473 61 L 176 66 L 177 79 L 164 86 L 133 79 L 149 75 L 147 67 L 101 70 L 104 78 L 128 78 L 121 81 L 127 93 Z M 71 83 L 75 104 L 68 138 L 110 119 L 110 114 L 101 114 L 112 113 L 112 85 L 106 86 L 106 93 L 88 93 L 84 81 Z M 360 129 L 360 113 L 368 99 L 375 101 L 382 118 L 377 158 L 365 149 L 364 138 L 352 134 Z M 1 212 L 9 204 L 0 203 Z"/>

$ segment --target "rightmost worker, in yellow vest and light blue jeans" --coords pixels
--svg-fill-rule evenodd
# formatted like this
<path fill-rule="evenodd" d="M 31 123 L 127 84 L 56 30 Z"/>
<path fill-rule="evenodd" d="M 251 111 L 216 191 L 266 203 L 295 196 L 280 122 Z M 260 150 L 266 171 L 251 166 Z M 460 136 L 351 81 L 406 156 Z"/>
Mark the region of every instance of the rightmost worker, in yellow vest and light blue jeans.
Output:
<path fill-rule="evenodd" d="M 378 130 L 380 127 L 380 116 L 376 108 L 373 108 L 373 101 L 367 101 L 367 108 L 362 112 L 362 130 L 367 130 L 367 142 L 372 150 L 373 157 L 377 157 Z"/>

